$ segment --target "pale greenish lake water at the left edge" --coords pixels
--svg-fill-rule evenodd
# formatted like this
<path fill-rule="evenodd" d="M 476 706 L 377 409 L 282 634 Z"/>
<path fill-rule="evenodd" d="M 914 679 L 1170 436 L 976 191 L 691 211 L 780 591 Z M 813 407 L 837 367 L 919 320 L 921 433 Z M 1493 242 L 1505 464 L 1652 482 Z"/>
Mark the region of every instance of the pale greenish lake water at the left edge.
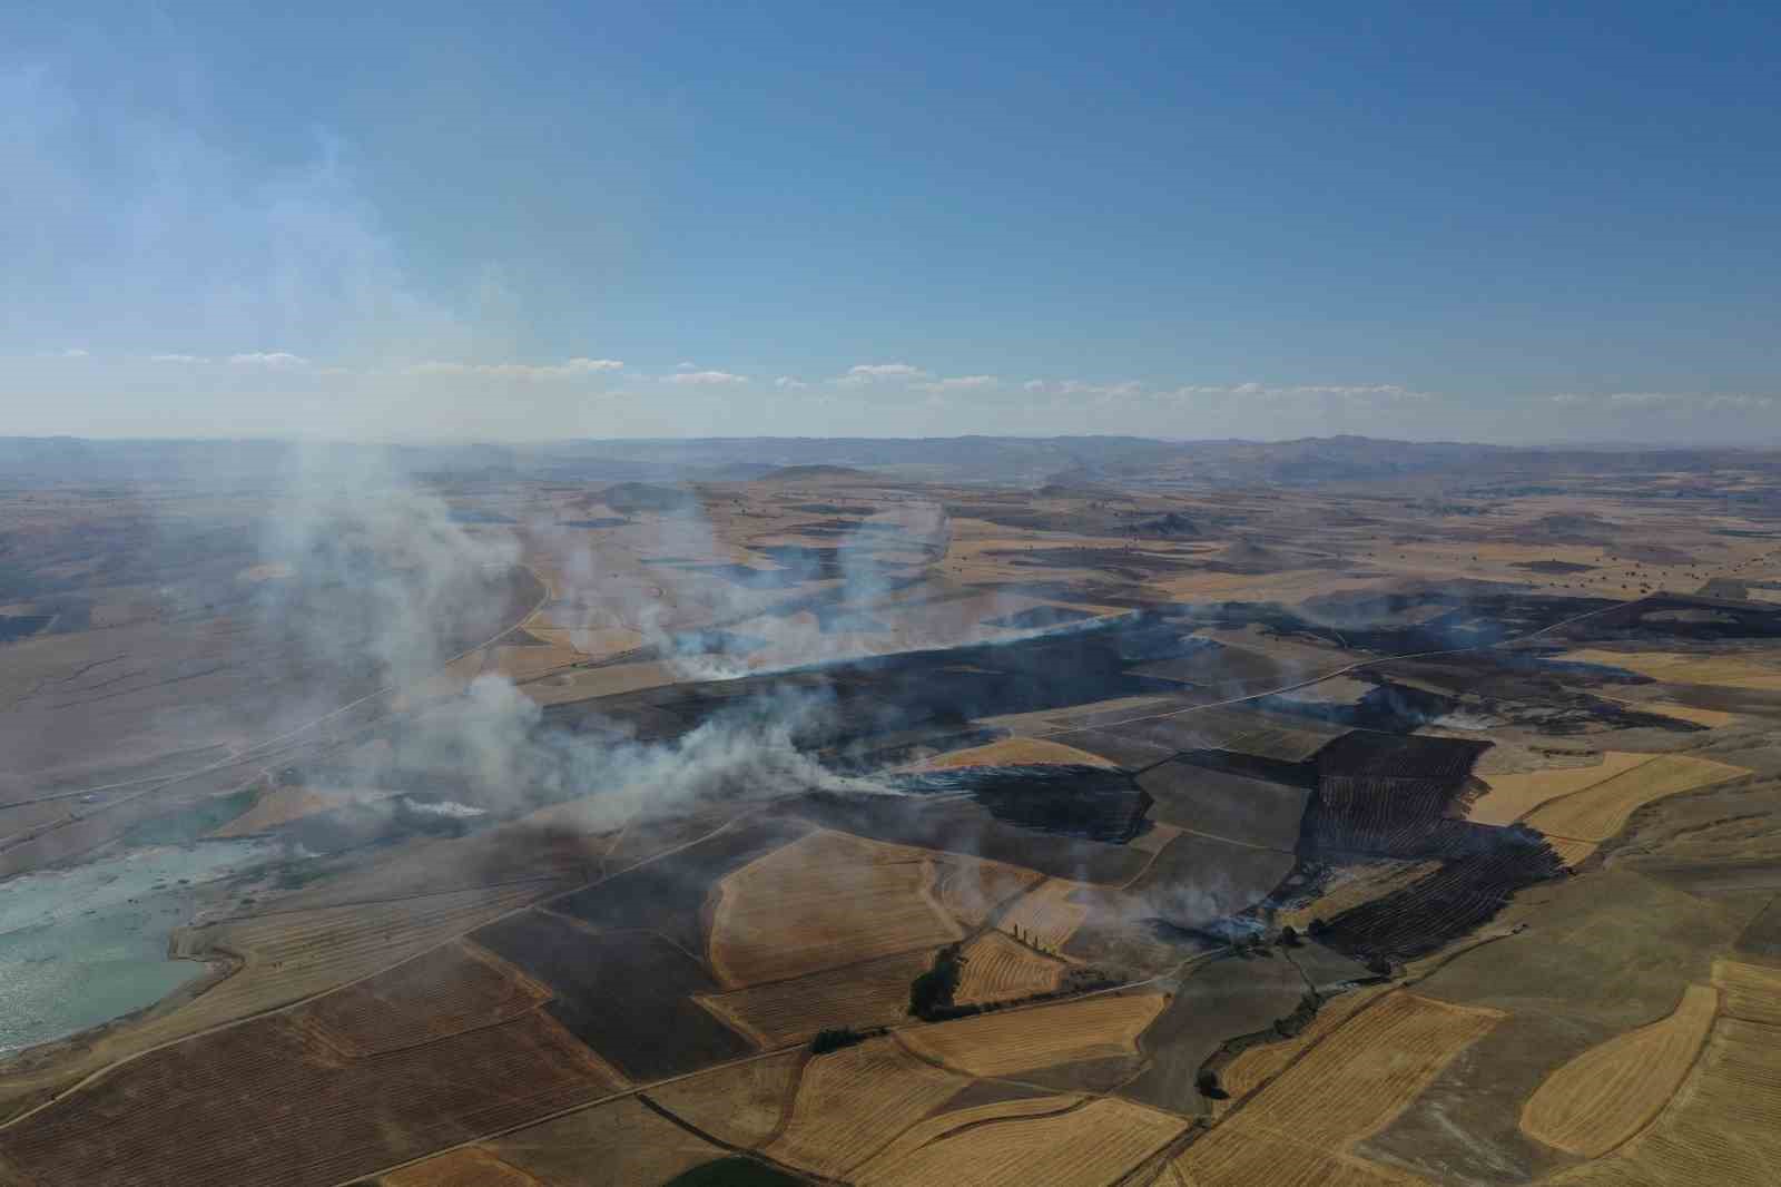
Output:
<path fill-rule="evenodd" d="M 192 918 L 192 888 L 272 855 L 260 841 L 217 841 L 0 882 L 0 1052 L 96 1027 L 199 977 L 203 964 L 167 959 L 167 936 Z"/>

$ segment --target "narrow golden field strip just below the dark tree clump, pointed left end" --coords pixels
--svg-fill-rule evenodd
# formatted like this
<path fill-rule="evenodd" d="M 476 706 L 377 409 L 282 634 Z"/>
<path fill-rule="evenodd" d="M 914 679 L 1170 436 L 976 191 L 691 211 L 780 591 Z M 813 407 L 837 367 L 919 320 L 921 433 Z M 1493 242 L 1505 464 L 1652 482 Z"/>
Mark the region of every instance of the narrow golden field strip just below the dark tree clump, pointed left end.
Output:
<path fill-rule="evenodd" d="M 974 1076 L 1008 1076 L 1085 1059 L 1138 1053 L 1138 1036 L 1163 1012 L 1161 993 L 1095 996 L 1026 1011 L 978 1014 L 899 1032 L 908 1048 Z"/>

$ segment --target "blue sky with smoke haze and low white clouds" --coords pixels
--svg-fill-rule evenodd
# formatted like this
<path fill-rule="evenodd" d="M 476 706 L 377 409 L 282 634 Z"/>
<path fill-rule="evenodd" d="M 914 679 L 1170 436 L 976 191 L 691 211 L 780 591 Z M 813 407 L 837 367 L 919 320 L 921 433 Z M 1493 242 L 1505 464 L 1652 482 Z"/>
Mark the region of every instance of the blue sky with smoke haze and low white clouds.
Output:
<path fill-rule="evenodd" d="M 5 433 L 1781 444 L 1776 5 L 11 5 Z"/>

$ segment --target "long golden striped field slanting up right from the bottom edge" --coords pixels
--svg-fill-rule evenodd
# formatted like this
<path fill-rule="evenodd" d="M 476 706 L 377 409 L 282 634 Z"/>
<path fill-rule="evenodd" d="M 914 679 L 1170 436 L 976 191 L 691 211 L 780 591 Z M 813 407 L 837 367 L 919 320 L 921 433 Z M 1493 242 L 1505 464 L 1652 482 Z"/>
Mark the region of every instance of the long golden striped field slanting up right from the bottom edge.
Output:
<path fill-rule="evenodd" d="M 1418 1182 L 1346 1153 L 1396 1117 L 1498 1011 L 1391 993 L 1359 1011 L 1191 1144 L 1175 1167 L 1197 1187 Z"/>

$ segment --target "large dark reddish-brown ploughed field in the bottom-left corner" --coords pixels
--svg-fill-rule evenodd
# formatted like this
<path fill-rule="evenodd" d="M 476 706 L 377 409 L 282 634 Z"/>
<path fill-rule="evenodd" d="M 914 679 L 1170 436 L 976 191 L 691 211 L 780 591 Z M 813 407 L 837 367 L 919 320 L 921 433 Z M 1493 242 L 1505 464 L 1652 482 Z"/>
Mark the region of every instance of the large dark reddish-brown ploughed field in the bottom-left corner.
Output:
<path fill-rule="evenodd" d="M 326 1187 L 618 1085 L 543 1014 L 349 1059 L 299 1011 L 118 1068 L 0 1132 L 0 1155 L 41 1183 Z"/>

